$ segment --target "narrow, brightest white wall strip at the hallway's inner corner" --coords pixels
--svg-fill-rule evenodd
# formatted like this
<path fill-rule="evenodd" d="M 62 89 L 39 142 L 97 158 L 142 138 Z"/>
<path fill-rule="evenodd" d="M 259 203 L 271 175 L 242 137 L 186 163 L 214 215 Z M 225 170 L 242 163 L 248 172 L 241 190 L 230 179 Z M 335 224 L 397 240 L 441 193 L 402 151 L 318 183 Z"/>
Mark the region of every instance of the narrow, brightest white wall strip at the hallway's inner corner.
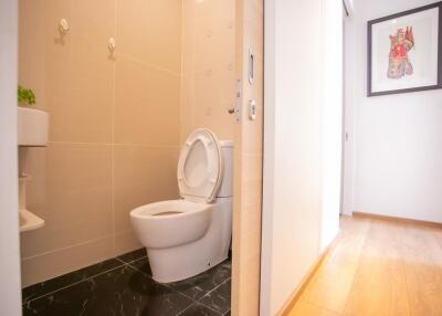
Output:
<path fill-rule="evenodd" d="M 343 7 L 323 0 L 323 212 L 320 250 L 339 228 L 343 157 Z"/>

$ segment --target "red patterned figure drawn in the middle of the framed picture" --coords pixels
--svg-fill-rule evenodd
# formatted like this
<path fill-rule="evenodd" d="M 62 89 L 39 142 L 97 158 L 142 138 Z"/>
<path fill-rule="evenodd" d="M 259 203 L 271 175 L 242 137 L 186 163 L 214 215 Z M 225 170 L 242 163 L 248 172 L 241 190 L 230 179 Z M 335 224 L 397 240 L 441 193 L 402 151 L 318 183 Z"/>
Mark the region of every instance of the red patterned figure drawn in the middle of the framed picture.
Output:
<path fill-rule="evenodd" d="M 401 78 L 404 75 L 413 74 L 413 65 L 408 56 L 408 52 L 414 48 L 413 28 L 407 30 L 398 29 L 394 35 L 390 35 L 390 54 L 388 61 L 389 78 Z"/>

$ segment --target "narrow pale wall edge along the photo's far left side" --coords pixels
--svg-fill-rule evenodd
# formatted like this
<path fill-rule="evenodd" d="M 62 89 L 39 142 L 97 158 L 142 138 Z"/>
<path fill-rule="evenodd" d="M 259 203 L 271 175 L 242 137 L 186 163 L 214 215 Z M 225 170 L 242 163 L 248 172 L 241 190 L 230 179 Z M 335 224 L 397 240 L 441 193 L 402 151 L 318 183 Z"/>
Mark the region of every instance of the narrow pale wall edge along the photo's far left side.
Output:
<path fill-rule="evenodd" d="M 17 1 L 0 1 L 0 315 L 21 315 L 17 183 Z"/>

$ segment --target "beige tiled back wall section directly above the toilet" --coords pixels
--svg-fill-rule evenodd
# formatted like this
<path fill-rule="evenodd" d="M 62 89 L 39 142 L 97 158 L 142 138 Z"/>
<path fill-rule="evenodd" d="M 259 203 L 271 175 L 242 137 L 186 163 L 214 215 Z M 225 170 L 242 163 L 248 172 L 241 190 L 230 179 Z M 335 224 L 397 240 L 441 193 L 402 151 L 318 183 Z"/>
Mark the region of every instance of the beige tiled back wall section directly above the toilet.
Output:
<path fill-rule="evenodd" d="M 233 139 L 235 0 L 182 0 L 181 139 L 208 127 Z"/>

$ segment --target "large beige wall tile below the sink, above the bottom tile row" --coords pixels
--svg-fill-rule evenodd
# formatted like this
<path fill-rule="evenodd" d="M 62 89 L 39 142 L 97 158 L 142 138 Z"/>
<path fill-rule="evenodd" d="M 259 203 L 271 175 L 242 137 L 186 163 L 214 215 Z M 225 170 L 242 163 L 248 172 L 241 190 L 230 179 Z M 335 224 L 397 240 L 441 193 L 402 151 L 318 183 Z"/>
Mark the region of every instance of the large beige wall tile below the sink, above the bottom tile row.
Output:
<path fill-rule="evenodd" d="M 28 208 L 45 224 L 21 234 L 22 256 L 112 235 L 110 147 L 50 144 L 32 150 Z"/>

